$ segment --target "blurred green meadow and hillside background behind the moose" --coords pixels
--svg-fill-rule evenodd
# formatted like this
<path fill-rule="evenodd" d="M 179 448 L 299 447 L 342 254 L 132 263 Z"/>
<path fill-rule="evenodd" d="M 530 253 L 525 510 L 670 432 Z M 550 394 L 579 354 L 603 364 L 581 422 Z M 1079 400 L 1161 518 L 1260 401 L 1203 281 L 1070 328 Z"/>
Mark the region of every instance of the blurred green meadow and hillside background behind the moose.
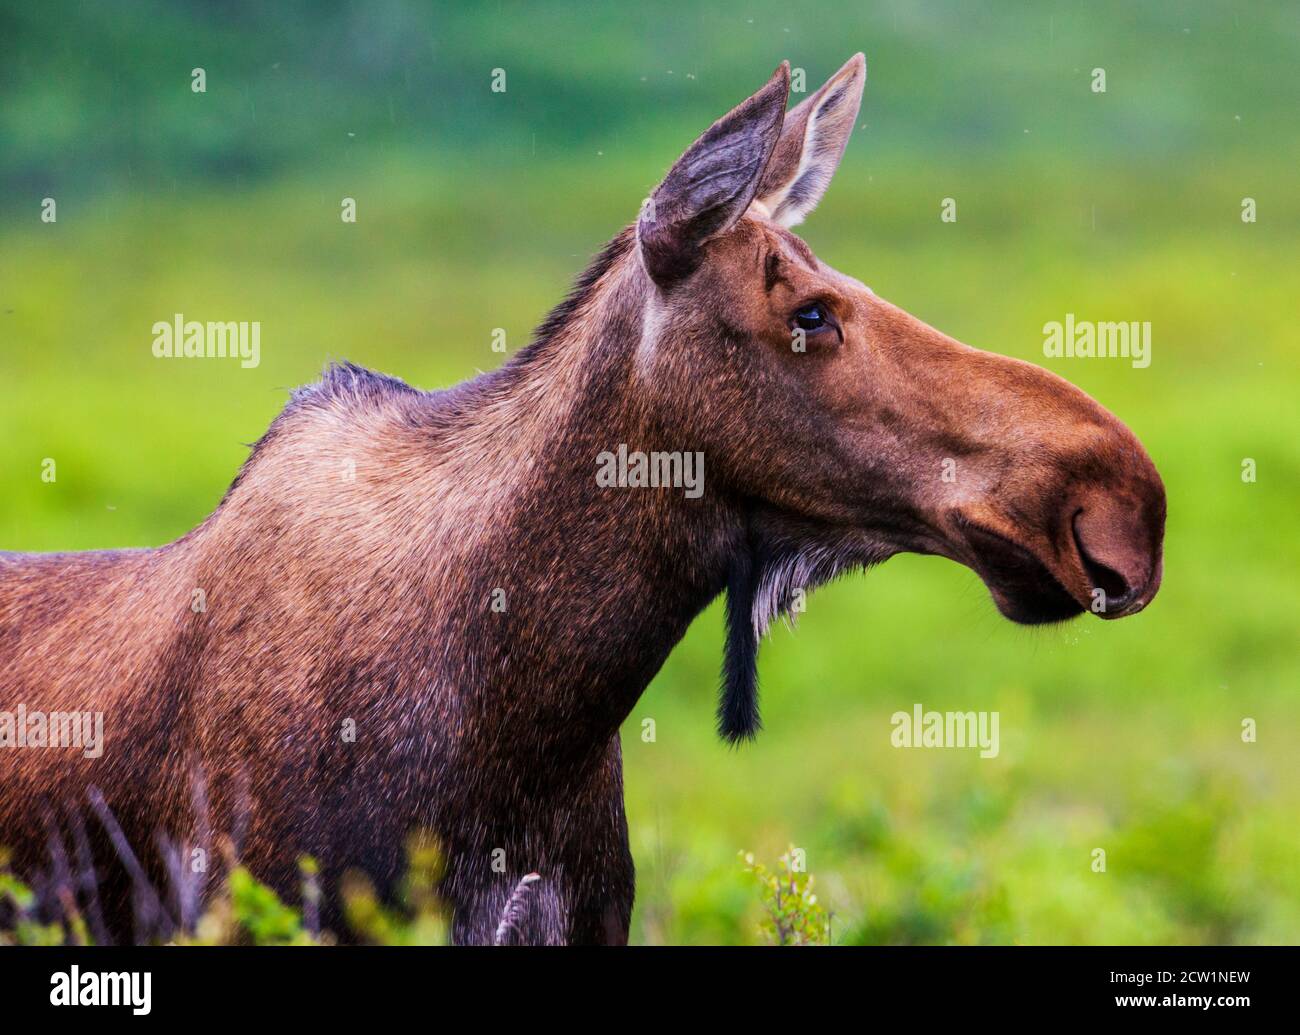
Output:
<path fill-rule="evenodd" d="M 1296 941 L 1297 31 L 1294 4 L 5 0 L 0 549 L 181 536 L 328 360 L 425 387 L 497 365 L 493 328 L 520 347 L 781 59 L 814 90 L 862 49 L 801 234 L 1126 420 L 1169 490 L 1165 586 L 1026 629 L 897 558 L 764 644 L 741 750 L 712 733 L 715 606 L 624 731 L 633 940 L 755 940 L 737 852 L 793 844 L 837 941 Z M 176 312 L 261 321 L 261 365 L 153 359 Z M 1150 321 L 1149 369 L 1045 360 L 1067 312 Z M 892 748 L 914 702 L 997 710 L 1001 754 Z"/>

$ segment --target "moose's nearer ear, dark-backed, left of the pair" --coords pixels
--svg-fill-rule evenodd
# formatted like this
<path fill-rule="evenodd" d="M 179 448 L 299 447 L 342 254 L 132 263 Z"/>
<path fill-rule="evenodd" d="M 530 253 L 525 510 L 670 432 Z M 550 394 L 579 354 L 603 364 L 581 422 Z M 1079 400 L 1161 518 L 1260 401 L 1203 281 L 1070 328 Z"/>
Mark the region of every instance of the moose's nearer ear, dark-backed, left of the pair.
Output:
<path fill-rule="evenodd" d="M 699 264 L 701 246 L 729 230 L 758 192 L 790 92 L 783 61 L 767 86 L 724 114 L 668 170 L 637 220 L 641 257 L 662 287 Z"/>

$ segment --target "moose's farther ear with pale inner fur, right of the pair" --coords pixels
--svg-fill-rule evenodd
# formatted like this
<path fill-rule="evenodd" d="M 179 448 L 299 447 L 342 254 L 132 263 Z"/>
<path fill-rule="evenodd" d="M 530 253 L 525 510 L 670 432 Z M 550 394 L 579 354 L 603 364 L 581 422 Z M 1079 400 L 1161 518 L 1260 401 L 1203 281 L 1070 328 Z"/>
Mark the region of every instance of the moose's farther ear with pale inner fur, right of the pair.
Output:
<path fill-rule="evenodd" d="M 758 189 L 758 200 L 774 222 L 797 226 L 822 200 L 858 120 L 866 83 L 867 59 L 855 53 L 785 116 L 781 139 Z"/>

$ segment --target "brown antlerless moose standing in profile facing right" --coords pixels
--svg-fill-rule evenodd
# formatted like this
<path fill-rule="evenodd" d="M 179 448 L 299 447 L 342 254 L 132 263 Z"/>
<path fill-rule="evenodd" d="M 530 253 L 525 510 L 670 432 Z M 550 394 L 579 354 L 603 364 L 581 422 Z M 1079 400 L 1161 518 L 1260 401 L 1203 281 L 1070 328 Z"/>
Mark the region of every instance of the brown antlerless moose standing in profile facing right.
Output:
<path fill-rule="evenodd" d="M 17 871 L 48 885 L 75 833 L 121 939 L 160 832 L 239 826 L 289 895 L 302 854 L 326 892 L 359 870 L 389 893 L 425 830 L 455 941 L 510 911 L 514 940 L 625 943 L 619 728 L 720 594 L 729 741 L 797 592 L 898 553 L 970 567 L 1018 623 L 1145 607 L 1165 491 L 1128 428 L 790 231 L 864 82 L 859 53 L 786 112 L 777 68 L 498 369 L 424 391 L 333 365 L 176 542 L 0 554 L 0 710 L 104 715 L 95 758 L 0 748 Z M 598 480 L 614 452 L 698 456 L 702 490 Z"/>

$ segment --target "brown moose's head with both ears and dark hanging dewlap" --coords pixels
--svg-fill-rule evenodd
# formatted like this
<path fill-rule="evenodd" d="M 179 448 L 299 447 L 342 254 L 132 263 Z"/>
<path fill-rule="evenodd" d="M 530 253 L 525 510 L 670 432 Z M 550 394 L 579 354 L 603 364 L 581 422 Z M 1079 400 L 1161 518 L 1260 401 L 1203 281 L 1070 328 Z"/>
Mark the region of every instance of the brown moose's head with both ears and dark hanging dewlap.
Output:
<path fill-rule="evenodd" d="M 637 365 L 746 501 L 728 583 L 723 733 L 750 736 L 755 644 L 794 589 L 902 551 L 972 568 L 1026 624 L 1145 607 L 1165 490 L 1138 438 L 1048 371 L 962 345 L 820 261 L 790 228 L 862 101 L 859 53 L 785 112 L 789 68 L 718 120 L 642 207 Z"/>

